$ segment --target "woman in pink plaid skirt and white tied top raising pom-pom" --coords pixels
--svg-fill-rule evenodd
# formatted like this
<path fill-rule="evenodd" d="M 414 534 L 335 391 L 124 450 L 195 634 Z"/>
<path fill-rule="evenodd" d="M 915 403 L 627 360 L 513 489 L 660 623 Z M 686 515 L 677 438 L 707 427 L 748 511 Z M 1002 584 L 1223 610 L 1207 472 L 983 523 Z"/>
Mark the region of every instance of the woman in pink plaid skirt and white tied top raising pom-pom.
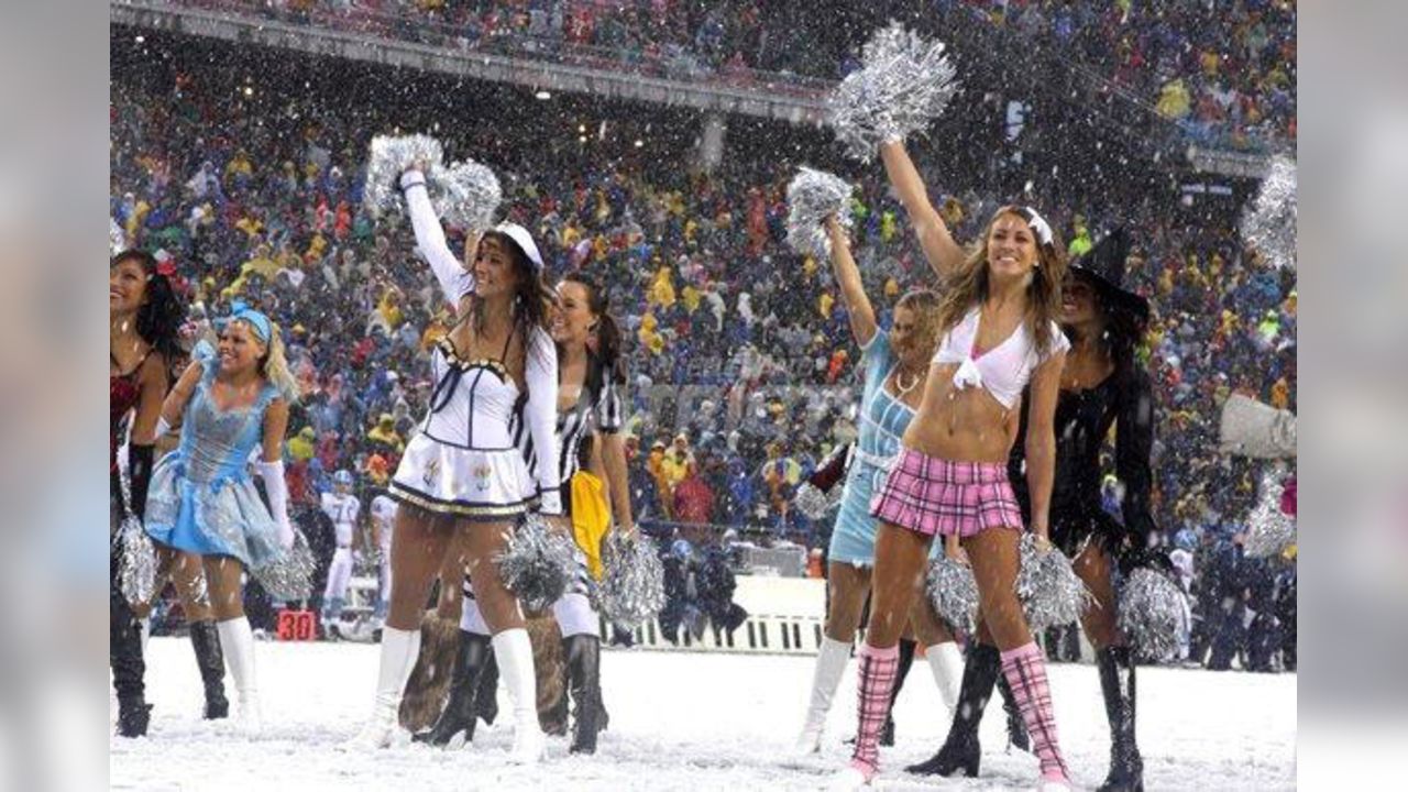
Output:
<path fill-rule="evenodd" d="M 1053 419 L 1069 347 L 1056 324 L 1066 264 L 1050 225 L 1025 206 L 998 209 L 964 256 L 929 203 L 903 144 L 887 142 L 880 152 L 925 258 L 948 283 L 938 310 L 938 352 L 919 409 L 872 503 L 880 528 L 870 626 L 859 652 L 859 727 L 850 765 L 835 782 L 839 788 L 867 785 L 879 769 L 877 743 L 915 579 L 934 537 L 957 536 L 977 579 L 984 617 L 976 640 L 1000 652 L 1041 761 L 1042 788 L 1069 789 L 1046 661 L 1017 600 L 1022 514 L 1007 479 L 1019 402 L 1029 383 L 1031 530 L 1049 547 Z"/>

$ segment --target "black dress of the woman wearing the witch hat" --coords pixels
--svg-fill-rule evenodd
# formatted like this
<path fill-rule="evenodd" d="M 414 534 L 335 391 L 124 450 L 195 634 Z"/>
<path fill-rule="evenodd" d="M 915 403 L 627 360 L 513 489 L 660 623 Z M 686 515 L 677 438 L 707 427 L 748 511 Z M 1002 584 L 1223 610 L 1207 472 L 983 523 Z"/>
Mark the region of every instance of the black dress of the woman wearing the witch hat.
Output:
<path fill-rule="evenodd" d="M 1008 459 L 1008 476 L 1031 523 L 1026 489 L 1026 404 L 1022 396 L 1021 428 Z M 1115 426 L 1115 476 L 1125 485 L 1124 523 L 1101 507 L 1100 448 Z M 1115 371 L 1104 382 L 1083 390 L 1062 390 L 1056 402 L 1056 476 L 1052 486 L 1050 540 L 1067 555 L 1095 537 L 1105 548 L 1125 543 L 1150 547 L 1159 528 L 1149 513 L 1153 474 L 1153 388 L 1142 371 Z"/>

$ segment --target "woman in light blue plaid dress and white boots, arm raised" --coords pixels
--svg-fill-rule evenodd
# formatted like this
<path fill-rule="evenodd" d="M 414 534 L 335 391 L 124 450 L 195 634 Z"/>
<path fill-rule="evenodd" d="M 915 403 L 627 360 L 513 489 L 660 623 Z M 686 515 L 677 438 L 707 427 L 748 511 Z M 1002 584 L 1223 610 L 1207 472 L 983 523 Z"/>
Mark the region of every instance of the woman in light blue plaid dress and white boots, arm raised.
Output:
<path fill-rule="evenodd" d="M 831 700 L 850 661 L 850 645 L 860 627 L 860 613 L 870 592 L 870 569 L 876 562 L 876 520 L 869 512 L 870 496 L 876 482 L 883 479 L 900 452 L 900 437 L 919 406 L 919 385 L 928 373 L 929 357 L 938 340 L 935 327 L 938 299 L 932 292 L 924 290 L 900 297 L 894 307 L 891 330 L 881 333 L 860 282 L 860 271 L 856 269 L 850 255 L 850 242 L 845 231 L 835 218 L 831 218 L 826 221 L 826 233 L 831 237 L 831 261 L 836 283 L 850 317 L 850 331 L 862 349 L 865 388 L 860 397 L 860 435 L 846 472 L 841 510 L 826 554 L 826 630 L 812 671 L 807 719 L 794 748 L 800 755 L 821 750 L 826 713 L 831 712 Z M 957 537 L 950 537 L 948 551 L 957 550 Z M 922 588 L 922 582 L 921 571 L 915 585 Z M 939 686 L 943 706 L 952 710 L 957 700 L 959 674 L 963 665 L 957 644 L 934 613 L 928 598 L 921 596 L 915 600 L 911 623 L 915 636 L 925 647 L 924 655 Z M 908 645 L 901 654 L 908 654 L 912 661 L 915 641 L 903 643 Z M 903 679 L 907 668 L 904 662 L 900 665 L 897 678 Z M 893 730 L 887 707 L 881 743 L 893 743 Z"/>

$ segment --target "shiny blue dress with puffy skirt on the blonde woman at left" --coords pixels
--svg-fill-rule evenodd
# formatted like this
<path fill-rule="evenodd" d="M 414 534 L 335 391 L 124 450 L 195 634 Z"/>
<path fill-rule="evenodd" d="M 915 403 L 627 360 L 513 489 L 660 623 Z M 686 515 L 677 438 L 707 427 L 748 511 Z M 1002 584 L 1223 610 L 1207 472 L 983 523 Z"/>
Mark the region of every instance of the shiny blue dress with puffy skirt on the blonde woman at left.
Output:
<path fill-rule="evenodd" d="M 180 445 L 152 469 L 146 533 L 176 550 L 237 558 L 259 575 L 286 555 L 249 475 L 265 410 L 279 390 L 265 383 L 253 404 L 221 410 L 210 393 L 220 361 L 207 351 L 200 364 L 204 372 L 186 409 Z"/>

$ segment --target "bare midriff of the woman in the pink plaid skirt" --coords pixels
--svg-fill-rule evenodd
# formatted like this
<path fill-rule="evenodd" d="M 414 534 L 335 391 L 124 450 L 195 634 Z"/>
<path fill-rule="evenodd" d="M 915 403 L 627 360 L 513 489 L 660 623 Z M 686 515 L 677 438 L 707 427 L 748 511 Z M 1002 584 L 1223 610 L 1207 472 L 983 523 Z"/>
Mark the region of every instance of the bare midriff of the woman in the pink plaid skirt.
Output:
<path fill-rule="evenodd" d="M 1017 440 L 1021 399 L 1011 409 L 986 388 L 959 389 L 959 364 L 935 364 L 924 383 L 924 400 L 901 444 L 926 457 L 950 462 L 1007 464 Z"/>

